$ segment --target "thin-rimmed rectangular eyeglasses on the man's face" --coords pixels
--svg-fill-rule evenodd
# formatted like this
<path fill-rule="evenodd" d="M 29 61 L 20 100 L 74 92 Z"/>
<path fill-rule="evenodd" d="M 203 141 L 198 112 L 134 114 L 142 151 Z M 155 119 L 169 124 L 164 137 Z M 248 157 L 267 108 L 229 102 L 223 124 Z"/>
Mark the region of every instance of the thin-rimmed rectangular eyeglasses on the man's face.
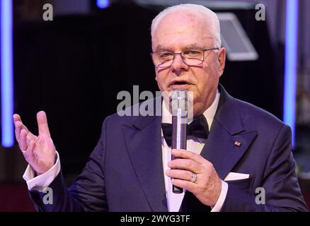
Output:
<path fill-rule="evenodd" d="M 215 50 L 219 48 L 211 48 L 211 49 L 189 49 L 183 52 L 168 52 L 168 51 L 160 51 L 160 52 L 152 52 L 151 57 L 153 59 L 153 63 L 157 68 L 168 68 L 173 63 L 175 56 L 180 54 L 180 57 L 183 59 L 183 62 L 188 66 L 199 66 L 205 60 L 205 51 Z"/>

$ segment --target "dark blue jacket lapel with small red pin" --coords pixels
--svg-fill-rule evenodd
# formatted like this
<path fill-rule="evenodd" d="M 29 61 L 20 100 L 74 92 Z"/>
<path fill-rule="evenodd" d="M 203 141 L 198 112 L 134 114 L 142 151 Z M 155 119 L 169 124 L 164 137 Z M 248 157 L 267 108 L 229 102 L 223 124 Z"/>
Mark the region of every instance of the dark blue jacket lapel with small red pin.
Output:
<path fill-rule="evenodd" d="M 224 180 L 246 153 L 256 138 L 257 131 L 246 131 L 236 100 L 226 93 L 222 85 L 219 85 L 219 90 L 219 106 L 201 155 L 212 162 L 217 174 Z M 240 145 L 236 145 L 235 142 L 239 142 Z"/>

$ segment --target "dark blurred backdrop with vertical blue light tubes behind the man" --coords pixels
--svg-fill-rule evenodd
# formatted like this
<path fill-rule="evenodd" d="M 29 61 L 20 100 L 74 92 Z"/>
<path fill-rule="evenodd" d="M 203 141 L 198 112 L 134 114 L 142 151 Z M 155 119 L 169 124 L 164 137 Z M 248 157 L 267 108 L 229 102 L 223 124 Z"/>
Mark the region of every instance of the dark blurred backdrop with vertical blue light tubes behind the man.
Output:
<path fill-rule="evenodd" d="M 151 20 L 180 3 L 218 13 L 227 51 L 220 82 L 293 131 L 293 153 L 310 206 L 310 1 L 0 0 L 0 211 L 33 211 L 26 163 L 13 136 L 13 112 L 38 133 L 45 110 L 70 185 L 132 85 L 158 90 Z M 47 5 L 49 4 L 49 5 Z M 52 10 L 51 10 L 52 8 Z M 307 25 L 308 24 L 308 25 Z"/>

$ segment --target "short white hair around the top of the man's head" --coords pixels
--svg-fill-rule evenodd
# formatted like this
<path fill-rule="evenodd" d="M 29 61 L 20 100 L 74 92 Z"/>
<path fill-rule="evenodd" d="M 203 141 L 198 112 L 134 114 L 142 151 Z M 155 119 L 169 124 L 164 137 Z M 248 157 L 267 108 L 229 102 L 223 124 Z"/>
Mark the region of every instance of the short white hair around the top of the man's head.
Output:
<path fill-rule="evenodd" d="M 209 8 L 205 6 L 195 5 L 195 4 L 179 4 L 176 6 L 170 6 L 161 11 L 152 21 L 151 23 L 151 40 L 153 41 L 154 33 L 159 25 L 159 22 L 167 16 L 169 13 L 175 11 L 186 11 L 190 13 L 200 13 L 205 16 L 205 20 L 209 23 L 210 32 L 212 37 L 214 37 L 214 42 L 217 47 L 221 47 L 221 34 L 219 28 L 219 19 L 217 18 L 217 14 L 213 11 L 209 10 Z"/>

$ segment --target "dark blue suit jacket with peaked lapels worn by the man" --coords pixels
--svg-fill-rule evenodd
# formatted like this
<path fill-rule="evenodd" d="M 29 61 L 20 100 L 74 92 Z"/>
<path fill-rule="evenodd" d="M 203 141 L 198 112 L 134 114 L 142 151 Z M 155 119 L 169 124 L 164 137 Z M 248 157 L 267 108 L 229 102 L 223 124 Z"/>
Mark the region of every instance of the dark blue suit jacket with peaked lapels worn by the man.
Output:
<path fill-rule="evenodd" d="M 272 114 L 231 97 L 221 85 L 219 106 L 201 155 L 228 182 L 222 211 L 306 211 L 291 152 L 291 131 Z M 241 145 L 234 145 L 239 141 Z M 255 190 L 265 189 L 265 205 Z M 161 117 L 119 117 L 103 122 L 101 138 L 76 182 L 67 189 L 62 173 L 50 184 L 53 204 L 30 191 L 37 210 L 167 211 L 161 157 Z"/>

